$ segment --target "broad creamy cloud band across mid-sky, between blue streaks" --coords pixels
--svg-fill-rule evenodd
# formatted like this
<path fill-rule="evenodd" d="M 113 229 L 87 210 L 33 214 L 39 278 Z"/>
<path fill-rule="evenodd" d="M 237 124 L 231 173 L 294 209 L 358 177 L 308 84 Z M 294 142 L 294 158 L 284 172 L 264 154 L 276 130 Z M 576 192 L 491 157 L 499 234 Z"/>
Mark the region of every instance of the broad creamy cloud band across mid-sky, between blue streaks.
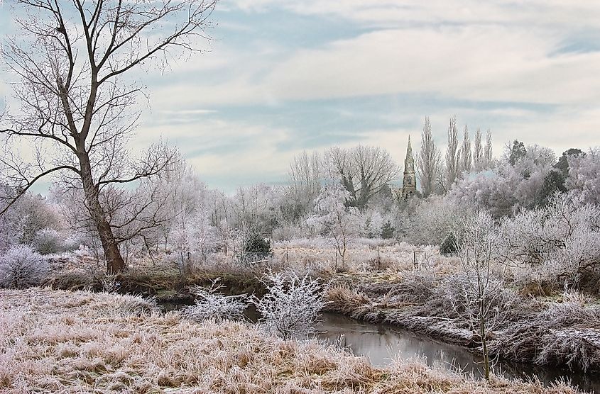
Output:
<path fill-rule="evenodd" d="M 555 33 L 504 26 L 376 30 L 300 48 L 285 60 L 246 64 L 222 83 L 163 86 L 159 96 L 193 97 L 202 106 L 405 93 L 525 103 L 599 100 L 600 52 L 557 54 L 561 45 Z"/>

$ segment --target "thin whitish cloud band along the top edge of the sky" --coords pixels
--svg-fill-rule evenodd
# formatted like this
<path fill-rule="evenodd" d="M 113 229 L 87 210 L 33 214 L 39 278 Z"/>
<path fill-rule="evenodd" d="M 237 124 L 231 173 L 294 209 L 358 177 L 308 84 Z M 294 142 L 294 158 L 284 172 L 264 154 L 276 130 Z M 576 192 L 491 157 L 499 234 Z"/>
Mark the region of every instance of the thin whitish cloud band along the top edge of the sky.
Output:
<path fill-rule="evenodd" d="M 403 24 L 504 24 L 509 26 L 600 26 L 597 1 L 511 0 L 234 0 L 246 12 L 279 8 L 309 16 L 335 16 L 374 27 Z"/>

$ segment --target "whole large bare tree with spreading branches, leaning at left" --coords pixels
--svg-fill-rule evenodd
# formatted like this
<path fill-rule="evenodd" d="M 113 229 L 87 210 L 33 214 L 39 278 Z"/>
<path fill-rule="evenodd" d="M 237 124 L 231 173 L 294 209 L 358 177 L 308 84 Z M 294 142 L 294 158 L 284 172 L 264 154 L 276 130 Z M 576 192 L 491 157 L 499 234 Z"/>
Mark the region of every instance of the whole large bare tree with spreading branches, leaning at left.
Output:
<path fill-rule="evenodd" d="M 21 77 L 15 87 L 21 108 L 0 132 L 29 140 L 35 149 L 31 162 L 5 155 L 3 172 L 18 186 L 18 196 L 49 175 L 80 189 L 108 271 L 122 271 L 103 195 L 156 176 L 173 158 L 164 145 L 153 146 L 141 159 L 127 154 L 141 93 L 131 72 L 197 50 L 216 0 L 15 3 L 26 13 L 15 18 L 23 35 L 6 40 L 2 55 Z"/>

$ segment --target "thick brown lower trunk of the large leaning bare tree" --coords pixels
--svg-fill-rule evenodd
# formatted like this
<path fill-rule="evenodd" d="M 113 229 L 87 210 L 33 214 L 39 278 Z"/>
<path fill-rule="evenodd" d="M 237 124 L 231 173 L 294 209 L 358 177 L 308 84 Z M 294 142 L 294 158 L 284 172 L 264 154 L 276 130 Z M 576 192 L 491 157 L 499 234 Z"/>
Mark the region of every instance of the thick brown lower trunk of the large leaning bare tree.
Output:
<path fill-rule="evenodd" d="M 107 261 L 107 272 L 109 274 L 119 274 L 125 269 L 125 261 L 121 257 L 119 244 L 117 244 L 110 223 L 107 220 L 107 215 L 102 209 L 99 200 L 99 188 L 94 184 L 92 169 L 89 165 L 89 157 L 87 153 L 80 154 L 80 169 L 83 190 L 85 193 L 85 201 L 87 209 L 96 225 L 102 249 L 104 250 L 104 259 Z"/>

